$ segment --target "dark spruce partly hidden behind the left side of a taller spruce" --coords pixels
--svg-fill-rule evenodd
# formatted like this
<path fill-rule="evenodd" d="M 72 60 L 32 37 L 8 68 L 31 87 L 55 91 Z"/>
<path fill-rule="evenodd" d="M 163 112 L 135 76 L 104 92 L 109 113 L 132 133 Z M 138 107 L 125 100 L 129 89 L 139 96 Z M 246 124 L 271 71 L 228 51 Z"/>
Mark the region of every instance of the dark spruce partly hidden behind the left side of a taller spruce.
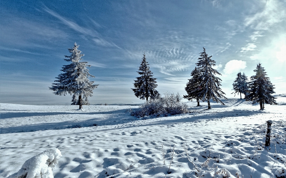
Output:
<path fill-rule="evenodd" d="M 187 95 L 184 95 L 185 99 L 188 99 L 189 101 L 192 101 L 195 99 L 198 103 L 197 106 L 200 106 L 200 98 L 199 93 L 202 91 L 202 87 L 200 86 L 200 72 L 197 67 L 191 72 L 191 79 L 188 79 L 189 82 L 187 82 L 185 90 L 188 93 Z"/>

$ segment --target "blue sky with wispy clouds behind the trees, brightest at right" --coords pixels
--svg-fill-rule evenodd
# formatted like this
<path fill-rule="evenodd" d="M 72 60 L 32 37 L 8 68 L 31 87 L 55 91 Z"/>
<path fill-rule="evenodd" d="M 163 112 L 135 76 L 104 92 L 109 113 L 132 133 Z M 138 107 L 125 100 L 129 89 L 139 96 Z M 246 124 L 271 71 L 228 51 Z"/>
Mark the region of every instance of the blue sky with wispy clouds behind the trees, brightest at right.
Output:
<path fill-rule="evenodd" d="M 206 48 L 227 97 L 257 63 L 286 93 L 286 1 L 6 1 L 0 5 L 0 102 L 70 104 L 49 90 L 74 42 L 96 76 L 91 104 L 141 103 L 130 88 L 145 51 L 157 90 L 184 87 Z M 92 79 L 93 80 L 93 79 Z"/>

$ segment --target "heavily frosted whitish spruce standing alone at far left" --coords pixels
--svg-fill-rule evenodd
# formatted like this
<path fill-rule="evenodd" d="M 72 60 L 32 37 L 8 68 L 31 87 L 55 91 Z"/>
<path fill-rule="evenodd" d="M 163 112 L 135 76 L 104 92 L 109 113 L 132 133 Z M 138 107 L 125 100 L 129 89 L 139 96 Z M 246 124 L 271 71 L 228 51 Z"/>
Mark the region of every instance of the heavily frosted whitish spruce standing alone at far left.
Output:
<path fill-rule="evenodd" d="M 69 48 L 70 56 L 65 56 L 69 59 L 64 59 L 67 62 L 71 62 L 69 65 L 63 65 L 63 74 L 59 74 L 56 77 L 57 80 L 53 83 L 51 90 L 55 91 L 56 95 L 66 95 L 67 93 L 73 95 L 71 105 L 79 105 L 79 109 L 82 109 L 82 105 L 89 105 L 88 96 L 92 96 L 92 93 L 98 85 L 93 85 L 95 81 L 89 81 L 88 77 L 95 77 L 89 74 L 86 67 L 87 62 L 79 62 L 82 60 L 84 54 L 80 54 L 81 51 L 77 49 L 77 43 L 74 43 L 72 48 Z M 76 98 L 78 96 L 78 99 Z"/>

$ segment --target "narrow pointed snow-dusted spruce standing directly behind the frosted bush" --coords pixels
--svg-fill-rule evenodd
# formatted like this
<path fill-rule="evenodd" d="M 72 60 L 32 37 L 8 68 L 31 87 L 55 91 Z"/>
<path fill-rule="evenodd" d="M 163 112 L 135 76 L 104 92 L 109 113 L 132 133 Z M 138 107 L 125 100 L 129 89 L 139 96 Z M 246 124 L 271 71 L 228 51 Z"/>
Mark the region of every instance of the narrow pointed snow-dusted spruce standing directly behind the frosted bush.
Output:
<path fill-rule="evenodd" d="M 148 99 L 155 99 L 159 95 L 158 91 L 155 90 L 158 86 L 156 84 L 156 78 L 153 78 L 153 72 L 150 71 L 150 67 L 148 65 L 144 52 L 139 71 L 137 71 L 141 76 L 136 77 L 137 80 L 134 80 L 135 83 L 133 83 L 135 88 L 131 88 L 137 98 L 146 98 L 146 101 L 148 101 Z"/>

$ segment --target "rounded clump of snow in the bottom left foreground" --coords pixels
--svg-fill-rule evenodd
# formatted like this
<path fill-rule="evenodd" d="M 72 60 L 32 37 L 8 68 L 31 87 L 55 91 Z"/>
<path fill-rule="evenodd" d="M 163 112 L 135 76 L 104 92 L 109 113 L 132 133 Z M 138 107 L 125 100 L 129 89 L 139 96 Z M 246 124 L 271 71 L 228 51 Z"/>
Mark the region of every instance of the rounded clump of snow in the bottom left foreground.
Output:
<path fill-rule="evenodd" d="M 25 161 L 22 168 L 16 174 L 16 178 L 54 178 L 52 168 L 61 157 L 57 148 L 46 150 Z"/>

